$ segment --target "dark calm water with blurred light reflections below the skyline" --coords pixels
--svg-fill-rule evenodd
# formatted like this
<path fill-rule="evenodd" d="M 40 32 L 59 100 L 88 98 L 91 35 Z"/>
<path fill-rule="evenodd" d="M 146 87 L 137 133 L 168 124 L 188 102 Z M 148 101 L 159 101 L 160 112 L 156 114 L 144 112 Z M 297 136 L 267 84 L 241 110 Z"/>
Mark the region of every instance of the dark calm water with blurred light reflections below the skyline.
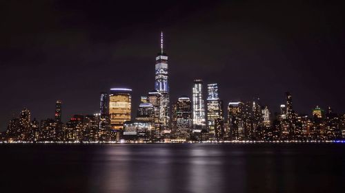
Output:
<path fill-rule="evenodd" d="M 345 144 L 0 145 L 0 192 L 345 192 Z"/>

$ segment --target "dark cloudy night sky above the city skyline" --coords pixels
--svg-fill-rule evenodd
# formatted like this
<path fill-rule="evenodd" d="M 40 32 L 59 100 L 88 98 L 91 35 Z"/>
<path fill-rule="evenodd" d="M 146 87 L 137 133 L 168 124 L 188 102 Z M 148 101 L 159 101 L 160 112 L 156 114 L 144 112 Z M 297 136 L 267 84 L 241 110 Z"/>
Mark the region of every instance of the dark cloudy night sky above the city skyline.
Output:
<path fill-rule="evenodd" d="M 170 99 L 193 79 L 220 97 L 259 97 L 273 111 L 345 111 L 345 17 L 340 1 L 1 1 L 0 130 L 27 107 L 38 120 L 99 111 L 99 93 L 129 87 L 132 114 L 154 87 L 159 35 Z"/>

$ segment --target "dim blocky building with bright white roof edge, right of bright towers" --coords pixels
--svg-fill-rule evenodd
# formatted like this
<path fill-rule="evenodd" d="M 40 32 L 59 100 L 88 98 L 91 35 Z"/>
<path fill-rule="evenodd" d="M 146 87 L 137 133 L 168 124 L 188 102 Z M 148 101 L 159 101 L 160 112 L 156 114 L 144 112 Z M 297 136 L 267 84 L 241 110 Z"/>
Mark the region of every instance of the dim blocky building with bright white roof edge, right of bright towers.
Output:
<path fill-rule="evenodd" d="M 243 140 L 244 139 L 244 122 L 243 122 L 243 102 L 229 102 L 228 104 L 228 126 L 230 139 Z"/>

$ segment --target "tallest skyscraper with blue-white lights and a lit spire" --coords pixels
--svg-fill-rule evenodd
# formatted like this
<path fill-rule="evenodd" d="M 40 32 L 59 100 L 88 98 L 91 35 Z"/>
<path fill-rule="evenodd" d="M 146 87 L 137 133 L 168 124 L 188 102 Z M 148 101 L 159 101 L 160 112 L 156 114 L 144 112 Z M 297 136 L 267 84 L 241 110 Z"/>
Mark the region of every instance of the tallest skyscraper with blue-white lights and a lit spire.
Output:
<path fill-rule="evenodd" d="M 155 65 L 155 90 L 161 94 L 159 119 L 163 133 L 169 133 L 169 84 L 168 84 L 168 56 L 163 51 L 163 32 L 161 32 L 161 52 L 157 54 Z"/>

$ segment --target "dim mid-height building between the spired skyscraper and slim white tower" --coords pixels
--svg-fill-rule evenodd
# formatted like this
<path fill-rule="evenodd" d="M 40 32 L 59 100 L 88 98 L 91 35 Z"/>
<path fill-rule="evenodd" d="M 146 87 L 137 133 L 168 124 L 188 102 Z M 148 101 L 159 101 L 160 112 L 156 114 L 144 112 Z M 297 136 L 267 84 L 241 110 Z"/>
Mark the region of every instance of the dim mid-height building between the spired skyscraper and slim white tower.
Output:
<path fill-rule="evenodd" d="M 174 122 L 172 127 L 176 129 L 177 137 L 186 139 L 188 133 L 192 132 L 193 119 L 192 119 L 192 105 L 190 98 L 181 96 L 174 109 Z"/>

